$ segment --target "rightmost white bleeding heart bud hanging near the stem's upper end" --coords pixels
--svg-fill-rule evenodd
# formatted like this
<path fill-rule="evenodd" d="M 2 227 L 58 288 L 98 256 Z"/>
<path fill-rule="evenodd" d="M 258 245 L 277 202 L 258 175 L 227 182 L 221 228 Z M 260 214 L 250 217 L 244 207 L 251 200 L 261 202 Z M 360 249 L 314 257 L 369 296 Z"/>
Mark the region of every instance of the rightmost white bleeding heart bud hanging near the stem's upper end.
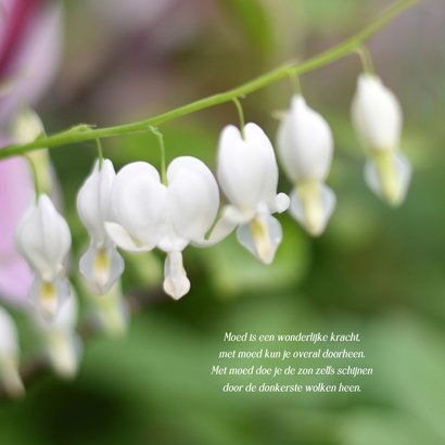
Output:
<path fill-rule="evenodd" d="M 400 204 L 408 190 L 411 167 L 399 151 L 403 116 L 397 98 L 379 77 L 363 74 L 351 112 L 357 136 L 370 153 L 365 165 L 366 182 L 390 204 Z"/>

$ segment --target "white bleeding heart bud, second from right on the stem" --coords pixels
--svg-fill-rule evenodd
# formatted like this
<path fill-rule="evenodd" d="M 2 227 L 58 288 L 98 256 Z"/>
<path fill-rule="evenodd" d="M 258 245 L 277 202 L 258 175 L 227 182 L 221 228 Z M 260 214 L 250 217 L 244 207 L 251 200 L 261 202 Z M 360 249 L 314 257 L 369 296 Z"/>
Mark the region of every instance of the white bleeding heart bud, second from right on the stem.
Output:
<path fill-rule="evenodd" d="M 282 167 L 295 185 L 291 214 L 312 236 L 319 236 L 335 208 L 335 194 L 325 185 L 333 155 L 331 129 L 302 96 L 295 96 L 277 139 Z"/>

